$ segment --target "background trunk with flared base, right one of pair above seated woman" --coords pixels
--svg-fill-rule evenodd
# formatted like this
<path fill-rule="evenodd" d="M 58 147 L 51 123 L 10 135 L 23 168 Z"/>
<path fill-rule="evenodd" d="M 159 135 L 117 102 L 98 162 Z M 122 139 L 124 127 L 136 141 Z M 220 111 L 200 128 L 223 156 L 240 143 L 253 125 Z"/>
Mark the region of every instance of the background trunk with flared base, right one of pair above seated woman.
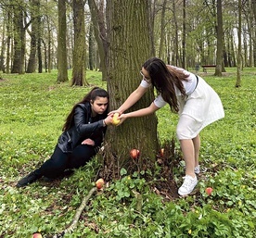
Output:
<path fill-rule="evenodd" d="M 85 81 L 85 27 L 83 0 L 73 0 L 74 48 L 71 85 L 88 85 Z"/>

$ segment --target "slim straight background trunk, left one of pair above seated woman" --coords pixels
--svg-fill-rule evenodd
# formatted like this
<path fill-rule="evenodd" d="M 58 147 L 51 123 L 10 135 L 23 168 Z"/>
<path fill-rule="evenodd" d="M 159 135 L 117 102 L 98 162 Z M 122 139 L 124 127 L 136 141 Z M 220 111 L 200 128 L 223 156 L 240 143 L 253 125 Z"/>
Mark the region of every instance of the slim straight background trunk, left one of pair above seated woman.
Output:
<path fill-rule="evenodd" d="M 66 31 L 66 1 L 58 0 L 58 82 L 69 81 Z"/>

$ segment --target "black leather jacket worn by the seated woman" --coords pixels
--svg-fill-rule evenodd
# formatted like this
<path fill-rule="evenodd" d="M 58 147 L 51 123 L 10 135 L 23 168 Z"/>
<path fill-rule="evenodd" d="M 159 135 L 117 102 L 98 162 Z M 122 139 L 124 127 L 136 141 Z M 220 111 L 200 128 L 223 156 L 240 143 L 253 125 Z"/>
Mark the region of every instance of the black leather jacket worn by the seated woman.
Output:
<path fill-rule="evenodd" d="M 75 108 L 70 130 L 58 137 L 58 147 L 64 153 L 71 153 L 78 144 L 88 138 L 95 141 L 94 147 L 100 146 L 107 129 L 103 124 L 103 119 L 106 119 L 107 115 L 108 112 L 105 111 L 93 118 L 90 103 L 79 104 Z"/>

